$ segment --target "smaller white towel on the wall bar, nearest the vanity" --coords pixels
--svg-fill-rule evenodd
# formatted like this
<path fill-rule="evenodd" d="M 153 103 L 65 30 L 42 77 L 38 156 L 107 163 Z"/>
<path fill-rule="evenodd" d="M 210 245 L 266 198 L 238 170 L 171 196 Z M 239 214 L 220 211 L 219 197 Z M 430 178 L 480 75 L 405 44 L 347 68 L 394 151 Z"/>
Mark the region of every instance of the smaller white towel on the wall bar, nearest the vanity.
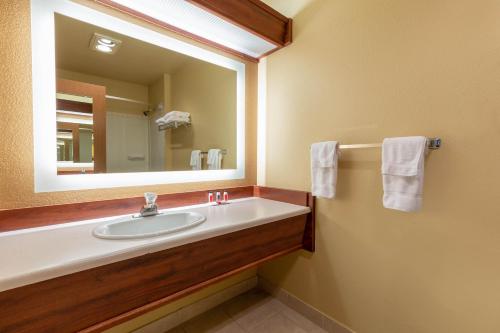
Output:
<path fill-rule="evenodd" d="M 338 142 L 326 141 L 311 145 L 312 195 L 334 198 L 337 186 Z"/>

